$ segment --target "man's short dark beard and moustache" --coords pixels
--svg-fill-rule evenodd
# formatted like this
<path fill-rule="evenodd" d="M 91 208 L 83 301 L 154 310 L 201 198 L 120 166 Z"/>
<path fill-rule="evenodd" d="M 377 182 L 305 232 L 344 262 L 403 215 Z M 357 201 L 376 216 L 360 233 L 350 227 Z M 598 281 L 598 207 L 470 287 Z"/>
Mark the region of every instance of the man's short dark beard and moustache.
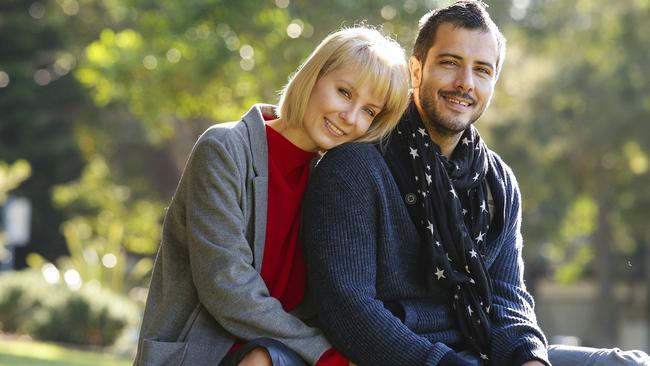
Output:
<path fill-rule="evenodd" d="M 467 93 L 443 92 L 442 95 L 438 95 L 438 98 L 442 99 L 443 95 L 447 97 L 458 97 L 465 100 L 471 100 L 472 106 L 476 106 L 476 100 L 469 96 Z M 481 117 L 484 110 L 480 108 L 475 110 L 469 120 L 466 121 L 462 120 L 462 116 L 456 118 L 444 118 L 441 115 L 440 111 L 438 111 L 436 108 L 436 100 L 434 92 L 431 90 L 431 88 L 429 88 L 427 85 L 423 85 L 420 88 L 419 97 L 422 110 L 425 114 L 422 116 L 422 122 L 424 122 L 427 127 L 433 128 L 442 136 L 455 136 L 465 131 L 467 127 L 469 127 L 472 123 L 476 122 L 479 117 Z"/>

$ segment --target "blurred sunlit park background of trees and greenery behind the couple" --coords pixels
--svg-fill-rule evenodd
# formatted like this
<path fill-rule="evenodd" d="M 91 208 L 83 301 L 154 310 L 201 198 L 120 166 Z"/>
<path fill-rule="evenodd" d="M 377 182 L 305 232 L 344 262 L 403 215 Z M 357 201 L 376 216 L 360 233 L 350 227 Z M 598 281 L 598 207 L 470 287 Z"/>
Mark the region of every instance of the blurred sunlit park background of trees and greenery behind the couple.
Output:
<path fill-rule="evenodd" d="M 447 3 L 0 0 L 0 365 L 129 364 L 198 135 L 275 103 L 339 27 L 410 52 Z M 519 179 L 540 324 L 648 351 L 650 0 L 487 3 L 508 51 L 477 126 Z"/>

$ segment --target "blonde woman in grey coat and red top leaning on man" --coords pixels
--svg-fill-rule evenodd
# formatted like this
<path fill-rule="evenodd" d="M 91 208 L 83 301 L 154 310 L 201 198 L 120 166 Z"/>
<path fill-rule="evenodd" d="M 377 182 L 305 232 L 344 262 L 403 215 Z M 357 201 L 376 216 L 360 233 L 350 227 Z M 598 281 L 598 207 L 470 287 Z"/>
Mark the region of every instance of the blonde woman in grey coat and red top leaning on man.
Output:
<path fill-rule="evenodd" d="M 278 108 L 254 105 L 203 133 L 165 217 L 136 365 L 347 364 L 303 320 L 300 202 L 317 153 L 385 137 L 407 89 L 397 43 L 343 29 Z"/>

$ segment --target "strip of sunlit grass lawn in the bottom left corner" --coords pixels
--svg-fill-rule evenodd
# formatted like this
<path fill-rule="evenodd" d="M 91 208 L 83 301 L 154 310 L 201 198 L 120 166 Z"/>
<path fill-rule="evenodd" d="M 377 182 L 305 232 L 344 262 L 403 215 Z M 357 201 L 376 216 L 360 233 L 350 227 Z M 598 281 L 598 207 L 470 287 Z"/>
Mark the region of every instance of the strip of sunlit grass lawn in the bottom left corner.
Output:
<path fill-rule="evenodd" d="M 0 339 L 0 366 L 130 366 L 117 356 L 80 351 L 51 343 Z"/>

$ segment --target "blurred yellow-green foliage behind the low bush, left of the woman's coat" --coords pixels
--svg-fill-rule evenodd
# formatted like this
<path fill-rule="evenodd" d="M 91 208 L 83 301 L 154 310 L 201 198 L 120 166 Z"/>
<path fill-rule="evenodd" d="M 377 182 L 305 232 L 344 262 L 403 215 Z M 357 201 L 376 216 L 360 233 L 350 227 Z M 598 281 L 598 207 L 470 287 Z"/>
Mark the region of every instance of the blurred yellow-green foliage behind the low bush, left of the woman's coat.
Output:
<path fill-rule="evenodd" d="M 83 215 L 62 226 L 70 255 L 59 260 L 59 268 L 74 269 L 83 282 L 95 281 L 117 292 L 146 284 L 153 260 L 144 257 L 129 263 L 128 253 L 156 251 L 163 208 L 132 200 L 130 192 L 110 181 L 109 168 L 100 157 L 88 164 L 79 181 L 54 189 L 58 206 Z"/>

